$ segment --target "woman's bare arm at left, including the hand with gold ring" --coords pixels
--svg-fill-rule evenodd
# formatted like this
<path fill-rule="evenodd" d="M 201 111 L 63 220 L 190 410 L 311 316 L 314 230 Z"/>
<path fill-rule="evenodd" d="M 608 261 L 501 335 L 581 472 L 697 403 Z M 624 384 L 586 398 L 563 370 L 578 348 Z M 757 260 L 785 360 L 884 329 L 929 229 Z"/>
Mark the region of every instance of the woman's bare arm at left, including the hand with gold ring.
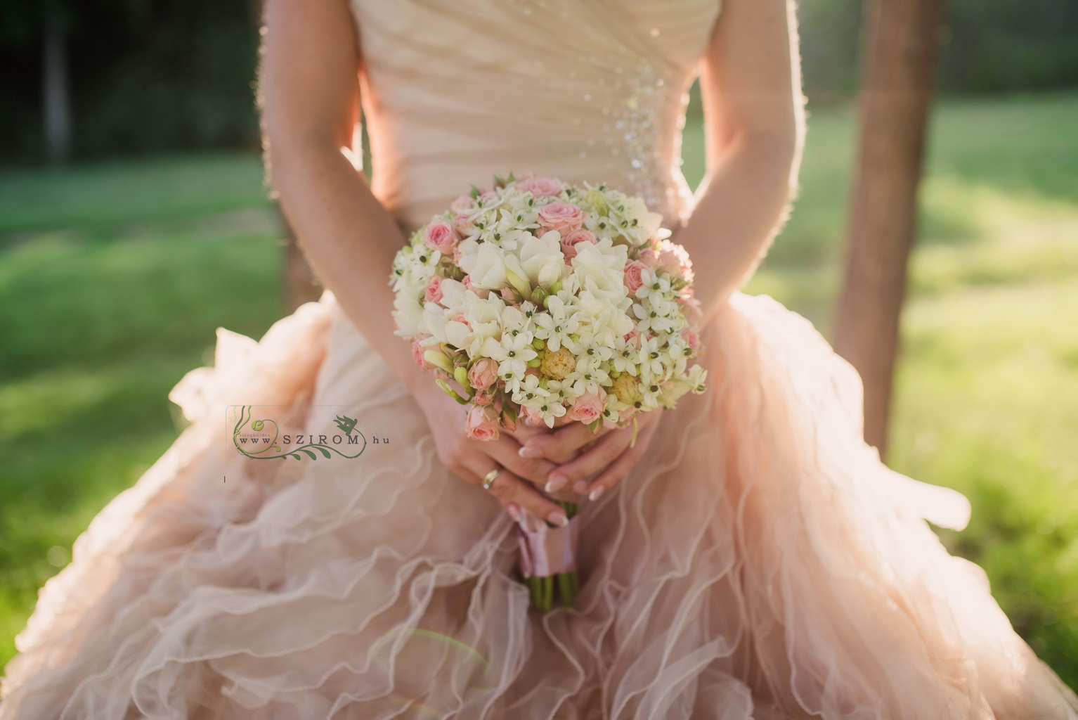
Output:
<path fill-rule="evenodd" d="M 267 0 L 260 77 L 270 174 L 300 246 L 341 308 L 409 387 L 434 434 L 439 457 L 472 483 L 506 468 L 492 494 L 564 523 L 557 504 L 521 477 L 544 481 L 553 467 L 524 459 L 511 437 L 480 443 L 464 412 L 393 335 L 389 271 L 404 236 L 342 152 L 358 120 L 360 56 L 346 0 Z"/>

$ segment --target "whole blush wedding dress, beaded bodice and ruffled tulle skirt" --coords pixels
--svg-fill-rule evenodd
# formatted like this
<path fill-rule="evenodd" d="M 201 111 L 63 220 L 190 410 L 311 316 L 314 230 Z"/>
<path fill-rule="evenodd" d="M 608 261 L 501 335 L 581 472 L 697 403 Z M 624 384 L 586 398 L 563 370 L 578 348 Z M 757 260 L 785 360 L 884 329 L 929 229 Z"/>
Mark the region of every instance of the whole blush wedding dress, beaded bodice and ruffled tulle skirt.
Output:
<path fill-rule="evenodd" d="M 691 211 L 680 128 L 716 0 L 353 11 L 373 189 L 409 230 L 510 170 Z M 510 518 L 440 463 L 331 294 L 259 343 L 219 331 L 170 396 L 190 427 L 41 591 L 0 718 L 1078 717 L 925 522 L 964 527 L 966 499 L 880 462 L 812 326 L 738 293 L 704 342 L 709 390 L 582 506 L 581 596 L 544 615 Z M 248 459 L 237 405 L 316 438 L 354 421 L 365 449 Z"/>

